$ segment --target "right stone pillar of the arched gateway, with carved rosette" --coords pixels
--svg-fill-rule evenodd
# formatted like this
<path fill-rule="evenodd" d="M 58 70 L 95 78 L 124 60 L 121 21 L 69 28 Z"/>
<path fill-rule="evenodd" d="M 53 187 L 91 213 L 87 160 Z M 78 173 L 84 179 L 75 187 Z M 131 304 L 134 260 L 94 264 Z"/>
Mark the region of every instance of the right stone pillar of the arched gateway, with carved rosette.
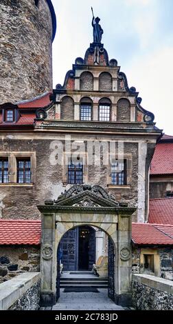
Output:
<path fill-rule="evenodd" d="M 115 283 L 115 303 L 117 305 L 130 306 L 132 303 L 131 215 L 119 215 L 117 232 L 117 285 Z"/>

